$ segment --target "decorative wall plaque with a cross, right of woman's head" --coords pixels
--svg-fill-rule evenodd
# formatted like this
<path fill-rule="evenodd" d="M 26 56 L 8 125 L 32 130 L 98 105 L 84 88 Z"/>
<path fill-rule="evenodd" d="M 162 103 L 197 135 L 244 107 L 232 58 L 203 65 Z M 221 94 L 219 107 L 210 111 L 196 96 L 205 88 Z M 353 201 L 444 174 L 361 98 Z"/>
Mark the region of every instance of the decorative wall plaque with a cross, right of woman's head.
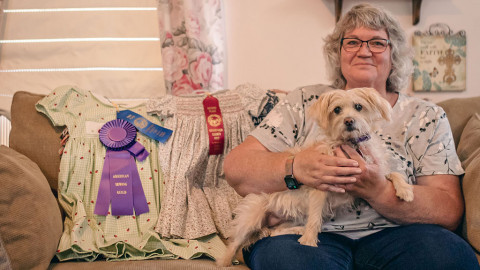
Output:
<path fill-rule="evenodd" d="M 464 91 L 466 87 L 465 31 L 453 34 L 446 24 L 432 24 L 413 37 L 413 91 Z"/>

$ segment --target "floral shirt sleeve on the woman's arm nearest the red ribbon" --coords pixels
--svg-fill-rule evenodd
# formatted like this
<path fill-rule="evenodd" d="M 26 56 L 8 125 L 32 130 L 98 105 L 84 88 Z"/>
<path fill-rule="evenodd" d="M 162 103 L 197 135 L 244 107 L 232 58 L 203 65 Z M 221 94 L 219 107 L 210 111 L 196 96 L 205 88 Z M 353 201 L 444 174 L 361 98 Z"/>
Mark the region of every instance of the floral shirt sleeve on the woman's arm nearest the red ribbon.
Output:
<path fill-rule="evenodd" d="M 303 133 L 305 111 L 303 92 L 293 90 L 282 99 L 250 135 L 272 152 L 294 147 Z"/>

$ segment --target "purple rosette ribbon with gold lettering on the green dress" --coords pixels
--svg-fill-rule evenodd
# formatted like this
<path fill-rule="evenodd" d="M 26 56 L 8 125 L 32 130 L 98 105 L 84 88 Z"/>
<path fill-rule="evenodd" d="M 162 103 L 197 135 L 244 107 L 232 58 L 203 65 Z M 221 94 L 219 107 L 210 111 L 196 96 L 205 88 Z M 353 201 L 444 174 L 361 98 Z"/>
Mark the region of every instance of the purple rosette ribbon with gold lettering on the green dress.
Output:
<path fill-rule="evenodd" d="M 135 215 L 148 212 L 135 159 L 143 161 L 149 153 L 135 141 L 135 126 L 125 120 L 115 119 L 103 125 L 99 137 L 107 153 L 93 212 L 106 216 L 110 204 L 114 216 L 133 215 L 133 210 Z"/>

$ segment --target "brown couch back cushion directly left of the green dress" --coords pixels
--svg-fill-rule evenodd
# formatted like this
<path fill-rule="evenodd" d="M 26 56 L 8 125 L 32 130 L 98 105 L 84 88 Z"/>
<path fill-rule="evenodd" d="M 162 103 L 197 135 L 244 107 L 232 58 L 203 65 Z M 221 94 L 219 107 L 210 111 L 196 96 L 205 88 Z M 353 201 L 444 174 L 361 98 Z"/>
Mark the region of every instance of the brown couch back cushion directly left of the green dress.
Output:
<path fill-rule="evenodd" d="M 10 147 L 34 161 L 47 178 L 52 190 L 58 188 L 60 168 L 60 134 L 45 115 L 37 112 L 35 103 L 44 95 L 19 91 L 12 101 Z"/>

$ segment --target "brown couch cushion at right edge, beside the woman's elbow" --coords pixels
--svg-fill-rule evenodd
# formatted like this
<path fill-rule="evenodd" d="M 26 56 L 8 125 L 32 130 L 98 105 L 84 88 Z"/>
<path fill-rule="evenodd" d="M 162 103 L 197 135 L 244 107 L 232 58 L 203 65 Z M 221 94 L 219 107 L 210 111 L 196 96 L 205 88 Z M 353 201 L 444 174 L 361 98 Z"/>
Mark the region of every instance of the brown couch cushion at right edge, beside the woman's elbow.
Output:
<path fill-rule="evenodd" d="M 465 169 L 462 180 L 465 218 L 462 233 L 480 255 L 480 116 L 470 118 L 458 144 L 458 155 Z"/>

